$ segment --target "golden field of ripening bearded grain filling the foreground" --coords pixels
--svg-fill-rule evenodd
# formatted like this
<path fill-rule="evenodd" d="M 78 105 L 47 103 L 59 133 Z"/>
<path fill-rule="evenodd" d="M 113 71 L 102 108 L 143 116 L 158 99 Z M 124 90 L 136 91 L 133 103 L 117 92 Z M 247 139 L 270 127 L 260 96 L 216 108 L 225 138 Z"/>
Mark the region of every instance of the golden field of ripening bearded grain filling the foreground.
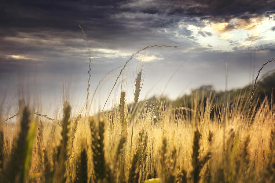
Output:
<path fill-rule="evenodd" d="M 93 117 L 64 102 L 58 123 L 21 101 L 18 123 L 1 121 L 1 182 L 274 182 L 275 107 L 255 100 L 249 116 L 242 96 L 229 109 L 194 95 L 175 112 L 163 99 L 127 106 L 122 90 Z"/>

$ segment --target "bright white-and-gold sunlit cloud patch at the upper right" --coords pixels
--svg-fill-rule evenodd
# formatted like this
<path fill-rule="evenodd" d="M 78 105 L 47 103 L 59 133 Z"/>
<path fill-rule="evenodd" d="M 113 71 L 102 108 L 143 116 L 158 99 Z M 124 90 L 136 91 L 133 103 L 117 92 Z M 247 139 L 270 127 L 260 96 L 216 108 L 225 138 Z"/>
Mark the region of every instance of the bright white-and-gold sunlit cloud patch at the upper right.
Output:
<path fill-rule="evenodd" d="M 232 51 L 236 48 L 254 48 L 259 44 L 269 44 L 275 38 L 272 27 L 275 24 L 273 16 L 258 16 L 252 18 L 233 18 L 228 22 L 211 22 L 203 20 L 206 27 L 202 32 L 210 32 L 212 36 L 197 37 L 200 44 L 210 47 L 212 50 Z M 197 31 L 196 26 L 189 26 L 189 29 Z M 199 33 L 200 31 L 197 31 Z"/>

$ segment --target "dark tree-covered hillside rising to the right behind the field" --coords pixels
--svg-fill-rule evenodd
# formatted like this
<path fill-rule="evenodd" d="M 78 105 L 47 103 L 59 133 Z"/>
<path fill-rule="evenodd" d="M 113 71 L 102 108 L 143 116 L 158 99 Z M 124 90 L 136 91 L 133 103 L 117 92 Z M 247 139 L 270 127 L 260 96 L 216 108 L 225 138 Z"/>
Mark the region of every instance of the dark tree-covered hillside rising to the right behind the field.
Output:
<path fill-rule="evenodd" d="M 241 99 L 244 100 L 244 102 L 250 101 L 252 87 L 253 87 L 252 85 L 248 85 L 243 88 L 232 89 L 227 91 L 227 98 L 228 98 L 227 104 L 229 106 L 232 105 L 233 102 L 236 101 L 236 99 L 240 98 L 239 97 L 240 95 L 241 95 Z M 263 101 L 265 97 L 267 97 L 268 100 L 271 100 L 273 98 L 273 102 L 274 102 L 275 95 L 274 95 L 273 88 L 275 88 L 275 72 L 268 74 L 265 77 L 258 80 L 256 84 L 254 99 L 259 99 L 259 102 L 260 102 L 260 101 Z M 206 105 L 206 100 L 211 99 L 213 101 L 213 106 L 215 105 L 215 107 L 219 108 L 224 104 L 225 95 L 226 95 L 225 91 L 215 91 L 212 85 L 204 85 L 204 86 L 200 86 L 199 88 L 193 89 L 191 91 L 191 94 L 189 95 L 183 95 L 182 97 L 179 97 L 176 100 L 170 100 L 170 99 L 164 98 L 163 102 L 169 103 L 169 105 L 171 105 L 173 109 L 178 109 L 181 107 L 194 109 L 194 106 L 192 106 L 194 104 L 194 99 L 197 100 L 196 102 L 199 102 L 204 106 Z M 137 108 L 148 109 L 150 107 L 153 107 L 154 115 L 157 115 L 158 114 L 157 106 L 159 106 L 159 102 L 160 102 L 159 99 L 153 96 L 150 99 L 138 102 Z M 133 110 L 134 109 L 133 103 L 128 104 L 127 109 L 128 109 L 128 112 Z"/>

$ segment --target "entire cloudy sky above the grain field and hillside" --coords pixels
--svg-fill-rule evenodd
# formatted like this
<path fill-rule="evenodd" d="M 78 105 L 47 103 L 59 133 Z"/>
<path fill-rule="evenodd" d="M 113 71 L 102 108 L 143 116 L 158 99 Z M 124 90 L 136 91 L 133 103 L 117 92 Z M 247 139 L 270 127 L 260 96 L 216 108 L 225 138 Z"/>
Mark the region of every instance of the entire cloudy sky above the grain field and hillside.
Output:
<path fill-rule="evenodd" d="M 54 101 L 65 86 L 71 98 L 84 101 L 89 59 L 79 25 L 90 44 L 91 93 L 109 70 L 123 65 L 138 49 L 156 44 L 178 49 L 150 48 L 135 56 L 114 94 L 122 85 L 128 101 L 133 101 L 133 77 L 142 62 L 141 99 L 161 93 L 175 99 L 202 84 L 223 90 L 226 61 L 228 88 L 239 88 L 275 57 L 274 10 L 274 0 L 4 0 L 0 92 L 15 98 L 24 86 Z M 274 69 L 270 63 L 263 73 Z M 98 106 L 118 74 L 119 69 L 114 70 L 103 81 L 96 95 Z"/>

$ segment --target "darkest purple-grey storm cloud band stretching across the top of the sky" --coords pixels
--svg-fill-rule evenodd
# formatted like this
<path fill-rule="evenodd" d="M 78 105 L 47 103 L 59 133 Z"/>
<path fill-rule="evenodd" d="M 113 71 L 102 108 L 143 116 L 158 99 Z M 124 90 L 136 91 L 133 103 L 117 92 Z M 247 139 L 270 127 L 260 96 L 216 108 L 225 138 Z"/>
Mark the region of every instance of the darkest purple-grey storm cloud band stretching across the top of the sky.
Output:
<path fill-rule="evenodd" d="M 177 29 L 178 24 L 203 28 L 201 20 L 223 21 L 234 17 L 248 20 L 268 11 L 273 14 L 271 1 L 21 1 L 1 2 L 0 39 L 18 37 L 19 33 L 33 33 L 38 38 L 79 38 L 78 24 L 82 25 L 90 39 L 118 47 L 140 38 L 161 38 L 157 29 Z M 227 25 L 231 30 L 234 25 Z M 62 33 L 62 34 L 60 34 Z M 81 34 L 81 32 L 80 32 Z M 192 31 L 181 27 L 178 34 L 188 38 Z M 211 33 L 199 32 L 202 36 Z M 167 38 L 165 38 L 167 39 Z M 62 40 L 63 41 L 63 40 Z M 107 44 L 106 44 L 107 45 Z M 95 45 L 98 46 L 98 45 Z M 125 45 L 128 46 L 128 45 Z"/>

